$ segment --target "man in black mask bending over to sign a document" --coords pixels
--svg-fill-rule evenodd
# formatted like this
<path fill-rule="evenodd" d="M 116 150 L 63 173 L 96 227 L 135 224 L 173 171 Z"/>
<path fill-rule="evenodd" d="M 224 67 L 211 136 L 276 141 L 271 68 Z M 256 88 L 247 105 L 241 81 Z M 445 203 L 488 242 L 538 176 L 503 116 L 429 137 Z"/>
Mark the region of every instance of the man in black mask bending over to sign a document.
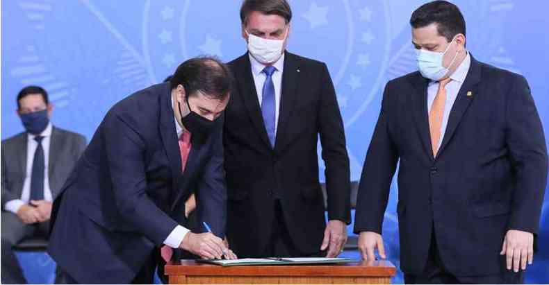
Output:
<path fill-rule="evenodd" d="M 48 252 L 63 282 L 151 284 L 156 266 L 162 269 L 178 248 L 236 258 L 222 241 L 221 115 L 230 89 L 222 62 L 193 58 L 169 83 L 109 110 L 54 202 Z M 181 226 L 191 189 L 199 224 L 211 232 Z"/>

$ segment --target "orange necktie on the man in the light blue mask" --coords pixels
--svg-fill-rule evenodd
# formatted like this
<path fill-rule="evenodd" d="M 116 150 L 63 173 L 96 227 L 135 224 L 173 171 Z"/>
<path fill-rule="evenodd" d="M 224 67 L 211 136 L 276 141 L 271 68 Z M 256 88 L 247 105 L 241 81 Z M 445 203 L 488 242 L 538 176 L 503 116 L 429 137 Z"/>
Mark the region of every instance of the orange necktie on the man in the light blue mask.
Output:
<path fill-rule="evenodd" d="M 445 78 L 439 81 L 439 91 L 436 92 L 431 111 L 429 112 L 429 131 L 431 132 L 431 146 L 433 148 L 433 156 L 439 152 L 439 141 L 441 139 L 441 126 L 444 115 L 444 105 L 446 103 L 446 84 L 450 82 L 450 78 Z"/>

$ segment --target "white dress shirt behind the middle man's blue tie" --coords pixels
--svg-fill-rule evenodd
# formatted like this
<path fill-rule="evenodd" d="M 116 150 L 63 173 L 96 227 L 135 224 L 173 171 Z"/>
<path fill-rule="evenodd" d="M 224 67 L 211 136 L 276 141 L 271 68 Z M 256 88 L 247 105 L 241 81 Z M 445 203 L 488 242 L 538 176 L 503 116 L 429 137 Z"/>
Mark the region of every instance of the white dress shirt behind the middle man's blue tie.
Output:
<path fill-rule="evenodd" d="M 251 54 L 249 55 L 249 62 L 252 64 L 252 75 L 254 76 L 254 83 L 257 90 L 257 99 L 259 100 L 259 106 L 263 102 L 263 84 L 267 79 L 267 75 L 263 72 L 266 65 L 257 61 Z M 278 130 L 278 117 L 280 110 L 280 93 L 282 87 L 282 72 L 284 69 L 284 53 L 282 56 L 272 64 L 277 70 L 272 74 L 272 84 L 274 84 L 274 135 L 277 135 Z"/>

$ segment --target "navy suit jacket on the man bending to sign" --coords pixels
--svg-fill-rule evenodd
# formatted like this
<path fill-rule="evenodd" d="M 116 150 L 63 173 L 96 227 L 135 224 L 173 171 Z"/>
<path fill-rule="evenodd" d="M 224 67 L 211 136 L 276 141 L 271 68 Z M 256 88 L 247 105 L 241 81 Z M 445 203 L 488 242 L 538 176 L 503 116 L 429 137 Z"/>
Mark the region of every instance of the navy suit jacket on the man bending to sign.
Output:
<path fill-rule="evenodd" d="M 197 214 L 224 236 L 222 121 L 205 144 L 191 141 L 186 169 L 167 83 L 125 98 L 106 114 L 56 200 L 48 251 L 82 283 L 129 283 L 184 219 Z"/>

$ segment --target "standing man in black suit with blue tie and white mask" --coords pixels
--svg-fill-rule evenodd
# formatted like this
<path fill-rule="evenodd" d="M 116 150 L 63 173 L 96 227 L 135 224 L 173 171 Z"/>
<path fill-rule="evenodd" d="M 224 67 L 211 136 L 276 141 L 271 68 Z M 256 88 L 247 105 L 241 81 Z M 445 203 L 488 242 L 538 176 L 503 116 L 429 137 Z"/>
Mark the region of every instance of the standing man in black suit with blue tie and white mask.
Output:
<path fill-rule="evenodd" d="M 335 257 L 347 239 L 343 120 L 326 64 L 285 50 L 291 17 L 285 0 L 246 0 L 240 9 L 249 52 L 229 63 L 236 84 L 224 125 L 227 238 L 238 257 Z"/>

